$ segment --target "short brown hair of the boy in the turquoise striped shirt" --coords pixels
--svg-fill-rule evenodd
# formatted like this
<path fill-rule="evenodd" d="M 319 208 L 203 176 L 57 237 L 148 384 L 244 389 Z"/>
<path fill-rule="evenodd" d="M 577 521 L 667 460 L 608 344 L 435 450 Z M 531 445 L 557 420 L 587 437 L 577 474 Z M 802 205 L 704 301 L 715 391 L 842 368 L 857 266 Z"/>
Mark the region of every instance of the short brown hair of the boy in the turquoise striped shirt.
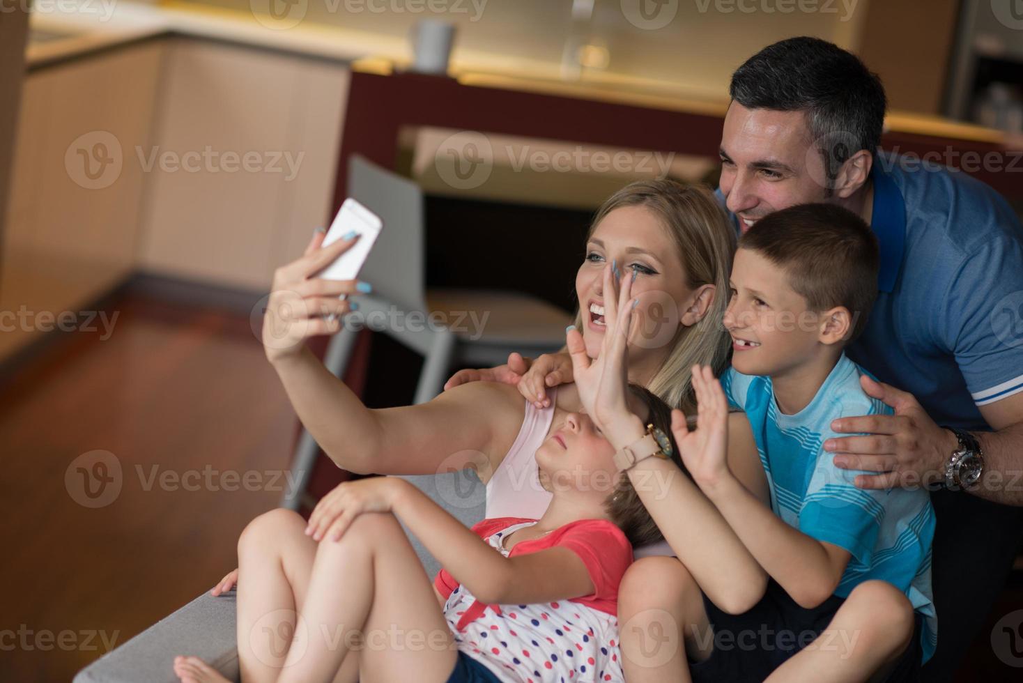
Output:
<path fill-rule="evenodd" d="M 848 344 L 866 326 L 878 295 L 878 239 L 863 219 L 830 203 L 804 203 L 768 214 L 739 238 L 739 248 L 784 269 L 811 311 L 844 306 L 852 314 Z"/>

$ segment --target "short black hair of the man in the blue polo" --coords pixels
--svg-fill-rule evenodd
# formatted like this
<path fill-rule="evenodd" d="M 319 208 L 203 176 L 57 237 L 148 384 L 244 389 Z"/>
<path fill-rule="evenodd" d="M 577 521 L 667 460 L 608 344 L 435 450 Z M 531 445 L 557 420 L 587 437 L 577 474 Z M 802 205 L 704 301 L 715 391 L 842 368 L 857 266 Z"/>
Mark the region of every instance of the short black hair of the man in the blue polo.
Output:
<path fill-rule="evenodd" d="M 805 111 L 825 158 L 829 194 L 838 170 L 881 144 L 888 99 L 877 74 L 834 43 L 802 36 L 768 45 L 731 76 L 731 98 L 748 109 Z"/>

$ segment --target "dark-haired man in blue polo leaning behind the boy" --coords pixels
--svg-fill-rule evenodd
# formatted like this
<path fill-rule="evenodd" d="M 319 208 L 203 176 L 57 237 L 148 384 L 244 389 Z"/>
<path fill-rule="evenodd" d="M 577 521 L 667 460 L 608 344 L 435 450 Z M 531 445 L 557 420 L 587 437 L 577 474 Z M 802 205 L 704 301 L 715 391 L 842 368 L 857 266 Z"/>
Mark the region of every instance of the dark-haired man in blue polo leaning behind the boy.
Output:
<path fill-rule="evenodd" d="M 836 416 L 836 431 L 870 436 L 825 448 L 840 467 L 878 472 L 857 476 L 864 489 L 943 489 L 932 495 L 938 648 L 923 679 L 950 680 L 1023 539 L 1023 226 L 963 173 L 877 153 L 884 88 L 836 45 L 770 45 L 730 94 L 719 195 L 740 231 L 825 201 L 878 236 L 877 303 L 847 353 L 895 414 Z"/>

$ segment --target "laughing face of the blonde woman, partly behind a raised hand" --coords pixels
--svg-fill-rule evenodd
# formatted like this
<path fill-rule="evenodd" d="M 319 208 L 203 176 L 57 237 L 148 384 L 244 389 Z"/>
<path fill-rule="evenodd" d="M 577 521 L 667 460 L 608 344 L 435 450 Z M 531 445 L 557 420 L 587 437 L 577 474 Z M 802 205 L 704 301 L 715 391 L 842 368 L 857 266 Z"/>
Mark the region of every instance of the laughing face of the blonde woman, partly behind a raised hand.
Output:
<path fill-rule="evenodd" d="M 586 242 L 586 257 L 576 274 L 586 353 L 596 358 L 604 340 L 604 267 L 617 262 L 623 278 L 636 271 L 636 331 L 629 339 L 629 364 L 665 358 L 682 314 L 694 303 L 686 273 L 668 229 L 644 207 L 620 207 L 596 225 Z"/>

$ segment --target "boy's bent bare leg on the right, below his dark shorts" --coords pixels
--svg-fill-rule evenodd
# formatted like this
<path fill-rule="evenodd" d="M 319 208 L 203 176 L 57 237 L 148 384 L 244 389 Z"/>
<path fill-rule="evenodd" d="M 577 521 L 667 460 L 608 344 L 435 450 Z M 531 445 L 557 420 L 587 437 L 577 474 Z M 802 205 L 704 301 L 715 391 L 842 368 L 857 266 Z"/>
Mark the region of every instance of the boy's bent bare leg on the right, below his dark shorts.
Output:
<path fill-rule="evenodd" d="M 884 581 L 852 589 L 828 628 L 767 681 L 883 681 L 914 637 L 913 605 Z"/>

